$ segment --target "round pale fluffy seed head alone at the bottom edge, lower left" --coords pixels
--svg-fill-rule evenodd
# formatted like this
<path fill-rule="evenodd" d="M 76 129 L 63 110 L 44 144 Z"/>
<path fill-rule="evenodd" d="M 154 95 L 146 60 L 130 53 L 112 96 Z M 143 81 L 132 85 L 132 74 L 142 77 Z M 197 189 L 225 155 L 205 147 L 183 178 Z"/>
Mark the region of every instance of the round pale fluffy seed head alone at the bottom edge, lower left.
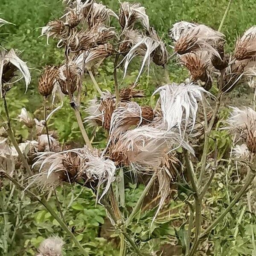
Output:
<path fill-rule="evenodd" d="M 64 241 L 58 236 L 52 236 L 41 242 L 38 256 L 61 256 Z"/>

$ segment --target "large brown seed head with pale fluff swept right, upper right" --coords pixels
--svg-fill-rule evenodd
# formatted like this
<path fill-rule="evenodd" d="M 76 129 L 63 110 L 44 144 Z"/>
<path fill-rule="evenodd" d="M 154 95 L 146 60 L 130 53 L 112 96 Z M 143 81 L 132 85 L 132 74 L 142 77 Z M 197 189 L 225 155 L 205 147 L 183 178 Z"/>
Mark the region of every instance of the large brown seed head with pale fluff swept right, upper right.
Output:
<path fill-rule="evenodd" d="M 208 51 L 219 58 L 215 49 L 219 41 L 224 41 L 224 35 L 205 25 L 197 25 L 186 29 L 175 43 L 175 52 L 182 55 L 188 52 Z"/>

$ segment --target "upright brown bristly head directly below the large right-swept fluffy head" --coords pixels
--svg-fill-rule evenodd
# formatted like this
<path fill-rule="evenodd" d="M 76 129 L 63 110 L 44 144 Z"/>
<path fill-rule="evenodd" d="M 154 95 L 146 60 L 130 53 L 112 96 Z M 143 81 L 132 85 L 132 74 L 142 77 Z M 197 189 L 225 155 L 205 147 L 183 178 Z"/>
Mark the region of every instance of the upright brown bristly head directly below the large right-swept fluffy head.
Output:
<path fill-rule="evenodd" d="M 210 56 L 207 52 L 186 53 L 180 55 L 180 60 L 189 70 L 192 81 L 202 81 L 204 89 L 211 89 L 212 79 L 209 70 Z"/>

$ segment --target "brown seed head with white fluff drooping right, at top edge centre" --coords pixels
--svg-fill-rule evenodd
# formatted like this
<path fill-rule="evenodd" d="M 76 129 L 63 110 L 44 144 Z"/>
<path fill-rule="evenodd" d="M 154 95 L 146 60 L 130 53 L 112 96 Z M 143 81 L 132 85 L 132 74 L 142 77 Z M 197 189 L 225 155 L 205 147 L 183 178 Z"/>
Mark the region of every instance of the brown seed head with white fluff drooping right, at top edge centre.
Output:
<path fill-rule="evenodd" d="M 141 21 L 145 29 L 149 30 L 149 20 L 145 7 L 141 6 L 140 3 L 120 3 L 119 23 L 122 29 L 132 28 L 137 20 Z"/>

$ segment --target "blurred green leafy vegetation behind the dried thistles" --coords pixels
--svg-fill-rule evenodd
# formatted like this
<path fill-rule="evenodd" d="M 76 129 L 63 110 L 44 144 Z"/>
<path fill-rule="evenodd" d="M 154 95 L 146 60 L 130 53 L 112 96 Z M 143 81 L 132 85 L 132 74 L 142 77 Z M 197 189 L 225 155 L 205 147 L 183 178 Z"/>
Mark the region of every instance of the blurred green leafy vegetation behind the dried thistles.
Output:
<path fill-rule="evenodd" d="M 170 44 L 167 32 L 173 23 L 179 20 L 187 20 L 196 23 L 204 23 L 214 29 L 218 29 L 220 20 L 227 7 L 228 0 L 138 0 L 147 8 L 147 14 L 150 18 L 151 25 L 155 27 L 160 35 L 163 35 L 166 44 Z M 103 1 L 114 11 L 119 8 L 117 0 Z M 49 20 L 59 17 L 62 10 L 61 1 L 57 0 L 1 0 L 0 15 L 1 18 L 15 23 L 16 26 L 6 25 L 0 28 L 0 44 L 9 49 L 15 48 L 23 50 L 21 58 L 27 61 L 31 68 L 32 83 L 29 86 L 27 94 L 23 94 L 23 86 L 15 86 L 8 94 L 8 102 L 10 108 L 10 116 L 12 123 L 15 125 L 15 135 L 20 142 L 31 139 L 27 129 L 15 121 L 17 114 L 20 113 L 22 107 L 26 107 L 30 113 L 42 119 L 41 113 L 41 97 L 37 90 L 37 81 L 40 70 L 47 64 L 60 64 L 61 50 L 55 47 L 56 42 L 50 40 L 49 45 L 46 44 L 46 38 L 39 37 L 41 34 L 41 26 L 44 26 Z M 236 38 L 247 28 L 255 24 L 255 0 L 234 0 L 229 14 L 223 26 L 223 33 L 227 39 L 227 50 L 234 47 Z M 170 48 L 169 48 L 170 49 Z M 171 49 L 170 49 L 171 52 Z M 134 63 L 136 66 L 136 64 Z M 161 72 L 151 67 L 151 76 L 149 81 L 144 77 L 140 80 L 141 87 L 146 88 L 148 95 L 161 84 Z M 170 63 L 169 76 L 171 81 L 183 81 L 188 73 L 175 62 Z M 106 65 L 99 70 L 96 79 L 102 89 L 113 91 L 113 64 Z M 119 73 L 121 77 L 122 74 Z M 131 73 L 125 80 L 125 84 L 134 81 L 136 72 Z M 90 79 L 84 81 L 86 86 L 86 95 L 84 102 L 93 97 Z M 239 88 L 230 98 L 236 100 L 236 105 L 243 103 L 244 99 L 250 102 L 251 91 Z M 149 101 L 149 98 L 146 99 Z M 232 104 L 232 99 L 228 104 Z M 57 130 L 59 138 L 63 143 L 73 143 L 80 145 L 81 135 L 73 113 L 69 111 L 68 102 L 61 111 L 55 114 L 50 121 L 50 127 Z M 3 113 L 3 106 L 0 105 L 0 112 Z M 71 110 L 70 110 L 71 112 Z M 223 118 L 227 114 L 224 109 Z M 65 115 L 64 115 L 65 113 Z M 85 114 L 84 114 L 85 115 Z M 65 118 L 67 122 L 61 122 Z M 93 133 L 94 131 L 90 131 Z M 219 157 L 222 157 L 230 149 L 230 139 L 224 131 L 215 131 L 212 135 L 218 143 Z M 95 144 L 102 145 L 101 135 L 94 139 Z M 218 170 L 215 177 L 215 185 L 208 195 L 205 207 L 211 207 L 213 211 L 211 215 L 218 215 L 225 208 L 226 203 L 230 200 L 228 191 L 233 188 L 234 183 L 232 177 L 236 175 L 235 166 L 229 170 L 223 167 Z M 127 204 L 125 209 L 129 210 L 134 206 L 144 185 L 127 185 L 125 189 L 125 200 Z M 167 248 L 167 254 L 177 255 L 181 253 L 182 243 L 184 241 L 184 227 L 175 230 L 172 223 L 186 221 L 186 216 L 182 211 L 182 200 L 186 195 L 186 189 L 180 192 L 178 198 L 172 198 L 169 204 L 162 210 L 156 223 L 151 226 L 151 216 L 154 210 L 146 210 L 142 212 L 140 220 L 136 226 L 132 227 L 132 231 L 140 234 L 144 238 L 145 247 L 157 251 Z M 70 227 L 72 227 L 77 239 L 87 248 L 90 255 L 108 256 L 117 255 L 118 248 L 115 240 L 115 234 L 111 233 L 111 225 L 106 223 L 105 210 L 99 205 L 95 206 L 93 194 L 89 189 L 80 186 L 64 186 L 58 188 L 58 200 L 65 212 L 65 219 Z M 182 195 L 183 194 L 183 195 Z M 182 197 L 183 196 L 183 197 Z M 246 202 L 246 200 L 245 200 Z M 51 202 L 52 207 L 57 207 L 54 201 Z M 145 206 L 148 209 L 148 206 Z M 209 214 L 209 213 L 208 213 Z M 244 216 L 241 221 L 241 215 Z M 168 221 L 167 218 L 168 217 Z M 205 215 L 207 218 L 207 215 Z M 256 234 L 256 218 L 255 215 L 249 214 L 247 208 L 244 208 L 244 202 L 240 202 L 233 209 L 230 215 L 227 215 L 212 233 L 210 238 L 205 242 L 204 248 L 200 253 L 207 255 L 252 255 L 253 241 L 251 234 Z M 30 256 L 35 254 L 35 248 L 40 242 L 51 235 L 59 235 L 66 242 L 64 246 L 64 256 L 79 255 L 76 247 L 70 242 L 49 213 L 47 213 L 37 203 L 31 202 L 25 195 L 18 193 L 10 184 L 0 187 L 0 255 L 24 255 Z M 176 242 L 175 238 L 179 240 Z M 161 244 L 168 243 L 168 246 Z M 174 245 L 175 244 L 175 245 Z M 214 244 L 214 247 L 212 245 Z M 171 253 L 172 254 L 168 254 Z M 206 254 L 205 254 L 206 255 Z"/>

